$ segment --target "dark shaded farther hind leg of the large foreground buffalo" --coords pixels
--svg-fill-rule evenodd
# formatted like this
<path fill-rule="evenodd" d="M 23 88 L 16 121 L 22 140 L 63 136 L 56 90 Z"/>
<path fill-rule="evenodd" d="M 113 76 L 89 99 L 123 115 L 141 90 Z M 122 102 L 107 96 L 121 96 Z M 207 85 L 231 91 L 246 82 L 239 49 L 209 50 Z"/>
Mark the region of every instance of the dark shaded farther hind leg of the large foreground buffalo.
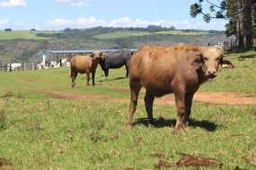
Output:
<path fill-rule="evenodd" d="M 146 90 L 146 95 L 144 98 L 145 106 L 146 106 L 146 114 L 148 119 L 148 126 L 154 125 L 154 117 L 153 117 L 153 102 L 154 102 L 154 94 Z"/>

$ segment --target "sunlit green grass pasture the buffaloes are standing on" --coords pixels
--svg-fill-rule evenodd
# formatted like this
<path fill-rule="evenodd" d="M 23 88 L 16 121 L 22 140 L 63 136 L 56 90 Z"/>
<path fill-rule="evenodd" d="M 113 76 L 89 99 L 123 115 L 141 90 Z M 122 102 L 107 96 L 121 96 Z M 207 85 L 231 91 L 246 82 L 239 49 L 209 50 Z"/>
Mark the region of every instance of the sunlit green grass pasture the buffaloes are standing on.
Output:
<path fill-rule="evenodd" d="M 238 60 L 239 55 L 244 55 L 243 61 Z M 233 92 L 255 99 L 255 52 L 227 58 L 236 67 L 221 69 L 199 93 Z M 156 102 L 156 126 L 147 127 L 142 90 L 134 127 L 128 131 L 125 68 L 110 70 L 106 80 L 99 66 L 95 87 L 85 87 L 85 75 L 79 74 L 77 88 L 72 89 L 69 75 L 69 68 L 0 72 L 0 169 L 256 167 L 255 103 L 195 100 L 189 131 L 174 132 L 176 108 L 172 102 Z M 216 165 L 179 166 L 184 154 L 213 158 Z"/>

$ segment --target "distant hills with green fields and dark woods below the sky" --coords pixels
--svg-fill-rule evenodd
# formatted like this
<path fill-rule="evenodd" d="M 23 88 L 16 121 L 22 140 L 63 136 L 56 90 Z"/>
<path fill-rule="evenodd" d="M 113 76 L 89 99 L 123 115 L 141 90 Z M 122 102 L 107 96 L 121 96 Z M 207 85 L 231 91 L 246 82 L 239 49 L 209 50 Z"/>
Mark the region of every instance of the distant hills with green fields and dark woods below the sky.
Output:
<path fill-rule="evenodd" d="M 207 46 L 224 41 L 222 31 L 168 30 L 146 28 L 102 28 L 63 31 L 0 31 L 0 64 L 38 62 L 40 50 L 120 49 L 144 45 L 189 43 Z M 64 56 L 66 57 L 66 56 Z"/>

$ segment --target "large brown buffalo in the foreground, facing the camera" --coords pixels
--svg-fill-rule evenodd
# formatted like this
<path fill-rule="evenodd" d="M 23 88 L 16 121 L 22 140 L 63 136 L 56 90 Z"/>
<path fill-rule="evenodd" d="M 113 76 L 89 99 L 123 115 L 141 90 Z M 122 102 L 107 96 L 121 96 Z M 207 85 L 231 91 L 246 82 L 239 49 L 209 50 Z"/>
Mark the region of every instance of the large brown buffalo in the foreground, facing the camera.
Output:
<path fill-rule="evenodd" d="M 216 77 L 223 51 L 217 47 L 195 47 L 179 44 L 174 47 L 146 46 L 132 55 L 129 62 L 130 105 L 127 128 L 132 127 L 137 98 L 146 88 L 145 105 L 149 124 L 154 123 L 153 101 L 174 93 L 177 106 L 175 129 L 189 123 L 194 93 L 200 84 Z"/>

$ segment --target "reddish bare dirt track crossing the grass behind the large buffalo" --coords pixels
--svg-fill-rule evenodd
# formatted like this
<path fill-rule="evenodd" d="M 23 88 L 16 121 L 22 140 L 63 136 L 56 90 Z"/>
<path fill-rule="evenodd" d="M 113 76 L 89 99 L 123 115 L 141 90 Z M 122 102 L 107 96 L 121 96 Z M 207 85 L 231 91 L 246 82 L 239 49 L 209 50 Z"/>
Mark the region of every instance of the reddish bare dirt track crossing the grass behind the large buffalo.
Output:
<path fill-rule="evenodd" d="M 128 103 L 129 98 L 113 98 L 106 95 L 92 94 L 92 93 L 66 93 L 59 91 L 42 91 L 51 95 L 53 98 L 59 99 L 78 99 L 78 100 L 104 100 Z M 226 105 L 252 105 L 256 104 L 256 98 L 252 95 L 244 93 L 225 93 L 225 92 L 197 92 L 194 100 L 212 104 L 226 104 Z M 139 102 L 143 102 L 139 100 Z M 155 98 L 155 105 L 174 105 L 175 100 L 173 94 L 165 95 L 162 98 Z"/>

